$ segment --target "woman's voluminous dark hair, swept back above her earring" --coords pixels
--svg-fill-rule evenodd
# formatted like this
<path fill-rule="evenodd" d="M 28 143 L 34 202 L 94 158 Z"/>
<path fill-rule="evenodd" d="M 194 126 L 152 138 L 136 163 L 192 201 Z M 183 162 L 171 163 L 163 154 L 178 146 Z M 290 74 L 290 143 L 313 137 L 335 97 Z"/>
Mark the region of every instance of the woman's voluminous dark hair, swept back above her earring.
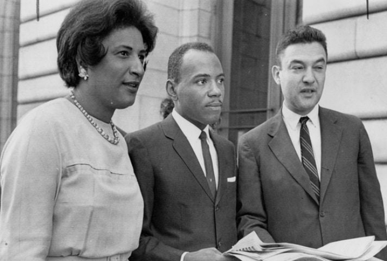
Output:
<path fill-rule="evenodd" d="M 142 34 L 147 54 L 156 44 L 153 15 L 139 0 L 81 0 L 64 18 L 56 38 L 60 77 L 68 87 L 79 84 L 76 57 L 85 67 L 106 55 L 102 41 L 111 31 L 128 26 Z"/>

